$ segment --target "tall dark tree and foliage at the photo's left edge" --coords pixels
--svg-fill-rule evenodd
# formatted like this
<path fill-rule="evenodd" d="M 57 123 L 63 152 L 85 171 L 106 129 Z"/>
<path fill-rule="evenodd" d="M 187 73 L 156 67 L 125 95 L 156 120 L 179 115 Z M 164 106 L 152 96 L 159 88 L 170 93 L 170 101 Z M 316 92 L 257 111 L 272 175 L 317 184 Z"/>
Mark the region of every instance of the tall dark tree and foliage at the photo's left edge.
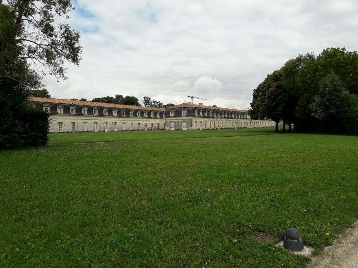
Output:
<path fill-rule="evenodd" d="M 72 9 L 69 0 L 0 0 L 0 147 L 47 141 L 48 114 L 30 108 L 27 97 L 43 89 L 46 74 L 66 79 L 66 60 L 78 65 L 79 33 L 55 23 Z"/>

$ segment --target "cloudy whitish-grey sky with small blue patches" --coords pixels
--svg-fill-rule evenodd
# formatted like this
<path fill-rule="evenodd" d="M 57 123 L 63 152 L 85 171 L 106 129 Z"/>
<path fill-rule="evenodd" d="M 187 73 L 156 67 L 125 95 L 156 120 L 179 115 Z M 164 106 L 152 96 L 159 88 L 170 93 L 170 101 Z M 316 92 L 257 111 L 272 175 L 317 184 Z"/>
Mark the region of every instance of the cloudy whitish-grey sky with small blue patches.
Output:
<path fill-rule="evenodd" d="M 52 97 L 122 94 L 247 109 L 268 73 L 304 52 L 357 50 L 357 0 L 77 0 L 83 59 Z M 195 103 L 199 101 L 196 100 Z"/>

